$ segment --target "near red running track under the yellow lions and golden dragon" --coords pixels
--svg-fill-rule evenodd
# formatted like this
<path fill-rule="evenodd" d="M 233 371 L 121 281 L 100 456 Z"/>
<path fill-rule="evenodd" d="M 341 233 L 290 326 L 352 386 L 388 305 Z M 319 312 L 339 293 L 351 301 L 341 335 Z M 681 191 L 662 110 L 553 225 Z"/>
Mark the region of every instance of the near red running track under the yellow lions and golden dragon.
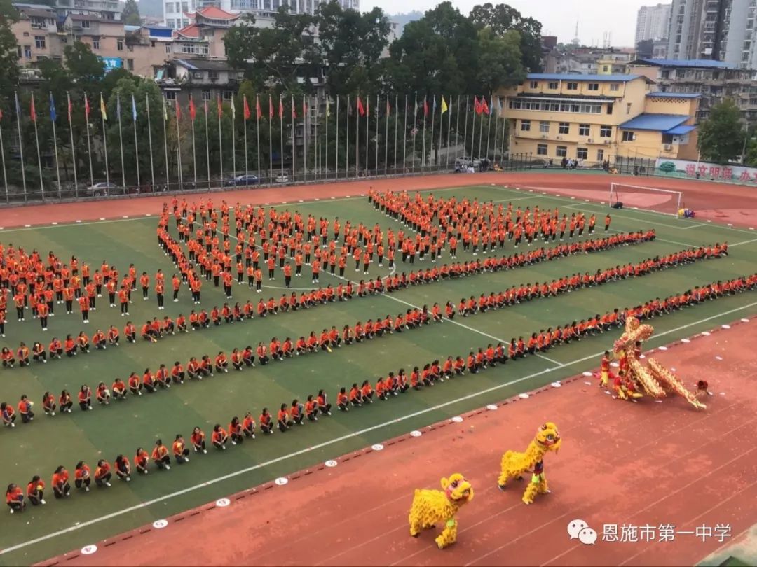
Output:
<path fill-rule="evenodd" d="M 757 342 L 757 320 L 732 327 L 654 355 L 687 383 L 707 376 L 715 395 L 706 411 L 681 398 L 615 401 L 578 376 L 382 451 L 346 455 L 333 468 L 298 472 L 287 485 L 236 494 L 228 507 L 209 504 L 166 528 L 100 542 L 92 555 L 41 565 L 693 565 L 757 523 L 757 360 L 743 349 Z M 524 484 L 497 489 L 500 455 L 525 449 L 547 420 L 563 438 L 559 454 L 545 459 L 553 492 L 526 507 Z M 438 488 L 453 472 L 468 477 L 475 498 L 459 513 L 457 543 L 440 551 L 431 532 L 410 537 L 407 512 L 414 488 Z M 574 519 L 600 541 L 571 540 Z M 618 532 L 671 524 L 679 533 L 671 542 L 601 541 L 605 524 Z M 680 533 L 702 524 L 730 525 L 731 537 Z"/>

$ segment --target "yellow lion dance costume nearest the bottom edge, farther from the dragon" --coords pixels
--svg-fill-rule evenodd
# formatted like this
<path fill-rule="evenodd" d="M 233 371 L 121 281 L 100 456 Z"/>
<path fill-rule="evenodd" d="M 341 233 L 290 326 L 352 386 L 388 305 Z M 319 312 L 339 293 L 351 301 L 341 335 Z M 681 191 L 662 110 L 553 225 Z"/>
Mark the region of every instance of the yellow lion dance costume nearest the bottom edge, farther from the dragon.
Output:
<path fill-rule="evenodd" d="M 417 538 L 422 530 L 444 522 L 444 531 L 435 539 L 440 550 L 457 539 L 455 514 L 464 503 L 473 500 L 473 487 L 466 477 L 456 472 L 449 479 L 441 479 L 439 490 L 416 489 L 410 508 L 410 535 Z"/>

